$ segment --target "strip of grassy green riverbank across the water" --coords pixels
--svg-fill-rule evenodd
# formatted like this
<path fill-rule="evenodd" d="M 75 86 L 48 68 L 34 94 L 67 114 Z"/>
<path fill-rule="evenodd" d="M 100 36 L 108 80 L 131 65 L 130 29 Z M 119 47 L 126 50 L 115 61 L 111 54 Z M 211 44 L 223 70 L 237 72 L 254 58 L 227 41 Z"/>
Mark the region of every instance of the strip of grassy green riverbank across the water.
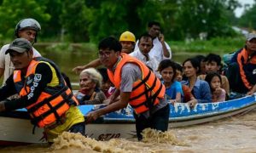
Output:
<path fill-rule="evenodd" d="M 227 54 L 242 48 L 245 42 L 245 37 L 216 37 L 211 40 L 189 40 L 189 41 L 167 41 L 172 48 L 172 53 L 196 53 L 196 54 Z M 91 42 L 37 42 L 35 48 L 48 51 L 67 51 L 79 52 L 97 50 L 97 44 Z"/>

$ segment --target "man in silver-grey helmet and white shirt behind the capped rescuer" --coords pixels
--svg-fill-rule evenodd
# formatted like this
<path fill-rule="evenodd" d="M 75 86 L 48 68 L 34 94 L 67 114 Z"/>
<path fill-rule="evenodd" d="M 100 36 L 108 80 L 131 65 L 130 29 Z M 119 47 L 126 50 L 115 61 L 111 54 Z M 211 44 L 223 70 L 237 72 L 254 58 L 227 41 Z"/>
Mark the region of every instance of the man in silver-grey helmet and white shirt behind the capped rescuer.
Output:
<path fill-rule="evenodd" d="M 37 20 L 34 19 L 23 19 L 15 27 L 15 36 L 26 38 L 32 44 L 37 42 L 38 31 L 41 31 L 41 26 Z M 0 50 L 0 77 L 3 75 L 3 84 L 6 79 L 13 73 L 15 67 L 10 61 L 9 54 L 5 54 L 9 44 L 4 45 Z M 41 56 L 35 48 L 32 48 L 33 57 Z"/>

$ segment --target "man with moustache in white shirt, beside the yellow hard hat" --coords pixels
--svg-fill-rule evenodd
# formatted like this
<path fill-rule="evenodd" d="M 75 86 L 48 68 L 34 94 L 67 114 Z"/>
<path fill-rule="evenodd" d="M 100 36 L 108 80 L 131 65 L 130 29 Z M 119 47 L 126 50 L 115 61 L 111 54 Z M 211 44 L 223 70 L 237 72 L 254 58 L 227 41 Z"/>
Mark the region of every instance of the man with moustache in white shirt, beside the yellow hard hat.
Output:
<path fill-rule="evenodd" d="M 148 34 L 143 34 L 138 40 L 138 46 L 139 48 L 129 55 L 141 60 L 154 72 L 156 77 L 160 78 L 160 73 L 157 71 L 159 62 L 149 54 L 152 51 L 151 48 L 153 48 L 152 37 Z"/>

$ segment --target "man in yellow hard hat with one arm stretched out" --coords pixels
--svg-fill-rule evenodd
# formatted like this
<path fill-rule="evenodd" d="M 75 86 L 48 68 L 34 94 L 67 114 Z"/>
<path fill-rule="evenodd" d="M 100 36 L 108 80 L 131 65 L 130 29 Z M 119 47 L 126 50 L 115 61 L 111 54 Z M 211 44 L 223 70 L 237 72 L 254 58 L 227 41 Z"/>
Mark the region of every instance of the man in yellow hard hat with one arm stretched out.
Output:
<path fill-rule="evenodd" d="M 125 31 L 121 34 L 121 36 L 119 37 L 119 42 L 122 45 L 122 53 L 125 54 L 131 54 L 134 50 L 135 47 L 135 41 L 136 38 L 134 36 L 133 33 L 131 33 L 131 31 Z M 95 59 L 93 61 L 91 61 L 90 63 L 88 63 L 87 65 L 81 65 L 81 66 L 77 66 L 75 68 L 73 68 L 73 71 L 75 71 L 76 73 L 78 73 L 79 71 L 83 71 L 84 69 L 93 67 L 96 68 L 97 66 L 102 65 L 101 60 L 100 59 Z"/>

